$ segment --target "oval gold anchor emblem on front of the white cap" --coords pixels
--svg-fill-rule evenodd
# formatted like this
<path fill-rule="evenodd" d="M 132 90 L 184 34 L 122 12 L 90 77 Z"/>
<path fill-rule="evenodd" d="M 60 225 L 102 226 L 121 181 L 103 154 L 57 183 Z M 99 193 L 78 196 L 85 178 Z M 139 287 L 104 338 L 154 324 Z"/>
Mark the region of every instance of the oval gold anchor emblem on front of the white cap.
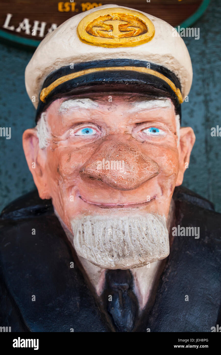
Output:
<path fill-rule="evenodd" d="M 118 7 L 90 13 L 77 27 L 82 42 L 101 47 L 133 47 L 150 41 L 154 32 L 148 17 Z"/>

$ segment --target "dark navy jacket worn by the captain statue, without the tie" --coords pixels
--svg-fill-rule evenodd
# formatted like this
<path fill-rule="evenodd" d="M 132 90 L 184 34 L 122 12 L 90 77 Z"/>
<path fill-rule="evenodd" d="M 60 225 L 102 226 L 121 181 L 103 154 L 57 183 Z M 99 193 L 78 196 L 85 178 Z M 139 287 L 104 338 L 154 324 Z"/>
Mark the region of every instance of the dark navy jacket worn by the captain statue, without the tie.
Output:
<path fill-rule="evenodd" d="M 200 227 L 200 237 L 174 237 L 135 332 L 211 332 L 221 325 L 221 214 L 184 187 L 173 199 L 173 226 Z M 12 332 L 116 331 L 51 201 L 40 200 L 37 191 L 1 214 L 0 279 L 0 326 Z"/>

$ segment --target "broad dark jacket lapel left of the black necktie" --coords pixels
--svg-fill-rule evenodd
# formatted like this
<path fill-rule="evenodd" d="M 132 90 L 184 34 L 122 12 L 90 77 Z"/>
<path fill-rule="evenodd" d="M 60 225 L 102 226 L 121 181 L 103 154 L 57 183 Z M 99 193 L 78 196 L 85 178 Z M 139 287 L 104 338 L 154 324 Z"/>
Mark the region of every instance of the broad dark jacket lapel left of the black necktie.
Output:
<path fill-rule="evenodd" d="M 108 332 L 55 215 L 4 223 L 3 277 L 29 331 Z"/>

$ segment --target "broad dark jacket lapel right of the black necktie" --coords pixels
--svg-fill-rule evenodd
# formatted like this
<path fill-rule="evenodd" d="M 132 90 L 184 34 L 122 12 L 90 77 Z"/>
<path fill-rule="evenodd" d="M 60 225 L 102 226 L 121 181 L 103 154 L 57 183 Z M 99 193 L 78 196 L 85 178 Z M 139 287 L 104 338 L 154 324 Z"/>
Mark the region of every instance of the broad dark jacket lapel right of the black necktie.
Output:
<path fill-rule="evenodd" d="M 186 201 L 175 204 L 174 226 L 199 227 L 200 236 L 174 237 L 154 306 L 144 311 L 139 332 L 211 332 L 216 324 L 221 303 L 220 218 Z"/>

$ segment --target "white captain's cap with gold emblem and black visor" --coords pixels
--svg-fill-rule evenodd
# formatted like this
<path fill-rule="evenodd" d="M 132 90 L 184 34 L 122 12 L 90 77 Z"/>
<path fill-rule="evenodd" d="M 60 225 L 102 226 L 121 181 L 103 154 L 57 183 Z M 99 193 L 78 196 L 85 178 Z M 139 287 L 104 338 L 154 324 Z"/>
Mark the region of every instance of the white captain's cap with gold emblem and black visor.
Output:
<path fill-rule="evenodd" d="M 104 5 L 48 34 L 26 67 L 25 84 L 38 119 L 53 100 L 96 90 L 168 96 L 179 112 L 192 77 L 187 47 L 170 24 Z"/>

